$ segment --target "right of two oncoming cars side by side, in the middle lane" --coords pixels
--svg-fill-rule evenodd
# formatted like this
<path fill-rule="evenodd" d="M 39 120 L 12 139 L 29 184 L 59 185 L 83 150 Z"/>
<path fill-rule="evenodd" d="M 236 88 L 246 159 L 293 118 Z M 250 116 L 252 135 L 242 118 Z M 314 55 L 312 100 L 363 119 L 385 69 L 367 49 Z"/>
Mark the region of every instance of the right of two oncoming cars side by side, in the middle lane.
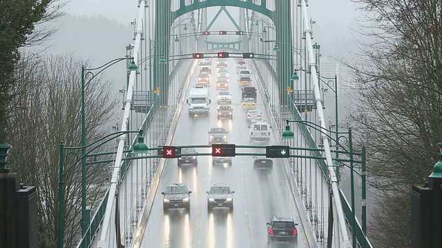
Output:
<path fill-rule="evenodd" d="M 229 207 L 233 211 L 233 194 L 234 190 L 226 183 L 215 183 L 210 187 L 207 193 L 207 210 L 213 207 Z"/>

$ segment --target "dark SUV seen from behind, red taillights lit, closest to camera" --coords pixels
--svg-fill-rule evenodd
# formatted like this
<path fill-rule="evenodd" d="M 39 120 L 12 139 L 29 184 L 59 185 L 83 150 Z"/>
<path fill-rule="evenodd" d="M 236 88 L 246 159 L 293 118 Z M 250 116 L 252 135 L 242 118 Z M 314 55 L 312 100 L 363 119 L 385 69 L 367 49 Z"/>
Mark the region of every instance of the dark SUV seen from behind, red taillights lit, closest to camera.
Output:
<path fill-rule="evenodd" d="M 289 240 L 296 241 L 298 238 L 298 229 L 293 218 L 290 217 L 275 217 L 267 224 L 267 240 Z"/>

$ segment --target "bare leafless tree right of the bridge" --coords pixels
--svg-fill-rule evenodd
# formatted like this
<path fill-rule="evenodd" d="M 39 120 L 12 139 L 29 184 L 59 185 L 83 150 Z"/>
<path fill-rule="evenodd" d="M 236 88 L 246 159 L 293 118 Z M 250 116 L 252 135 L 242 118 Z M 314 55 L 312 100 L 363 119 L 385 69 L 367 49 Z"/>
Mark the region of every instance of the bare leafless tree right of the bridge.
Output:
<path fill-rule="evenodd" d="M 348 120 L 379 195 L 368 236 L 378 247 L 410 247 L 411 185 L 430 174 L 442 141 L 441 1 L 356 2 L 369 42 L 347 63 L 359 92 Z"/>

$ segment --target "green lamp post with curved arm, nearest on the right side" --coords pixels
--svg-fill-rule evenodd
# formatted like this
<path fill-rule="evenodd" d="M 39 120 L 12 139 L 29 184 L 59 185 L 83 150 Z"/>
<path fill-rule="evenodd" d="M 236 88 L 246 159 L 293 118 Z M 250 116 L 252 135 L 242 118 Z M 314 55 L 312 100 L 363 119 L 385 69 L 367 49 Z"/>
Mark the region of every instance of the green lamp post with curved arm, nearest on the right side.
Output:
<path fill-rule="evenodd" d="M 289 123 L 303 123 L 305 125 L 308 125 L 309 127 L 313 128 L 314 130 L 317 130 L 318 132 L 320 132 L 321 134 L 325 134 L 325 136 L 327 136 L 328 138 L 330 138 L 331 140 L 334 140 L 334 138 L 332 138 L 332 136 L 329 136 L 329 134 L 327 134 L 327 132 L 330 133 L 335 133 L 336 134 L 336 144 L 339 145 L 339 138 L 343 138 L 345 136 L 340 136 L 340 134 L 347 134 L 348 135 L 348 142 L 349 142 L 349 150 L 347 151 L 344 147 L 342 147 L 342 145 L 340 145 L 340 147 L 343 148 L 344 152 L 347 153 L 349 155 L 349 163 L 350 163 L 350 184 L 351 184 L 351 207 L 352 207 L 352 218 L 350 220 L 351 225 L 352 225 L 352 229 L 355 230 L 356 229 L 356 218 L 355 218 L 355 207 L 354 207 L 354 151 L 353 151 L 353 142 L 352 142 L 352 128 L 350 127 L 348 129 L 348 132 L 334 132 L 332 130 L 325 130 L 324 128 L 321 127 L 320 125 L 316 124 L 316 123 L 312 123 L 310 121 L 304 121 L 304 120 L 286 120 L 287 125 L 285 126 L 285 131 L 282 132 L 282 139 L 289 139 L 289 138 L 294 138 L 294 132 L 290 130 L 290 125 Z M 342 151 L 338 151 L 338 147 L 336 147 L 336 153 L 338 152 L 342 152 Z M 366 230 L 366 216 L 365 216 L 365 147 L 363 147 L 362 149 L 362 153 L 361 153 L 362 159 L 361 159 L 361 164 L 362 164 L 362 173 L 358 174 L 359 176 L 361 176 L 362 181 L 363 181 L 363 185 L 362 185 L 362 220 L 363 220 L 363 232 L 365 234 L 365 230 Z M 338 158 L 335 158 L 335 161 Z M 340 159 L 342 160 L 342 159 Z M 356 247 L 356 231 L 352 231 L 352 238 L 353 238 L 353 247 Z"/>

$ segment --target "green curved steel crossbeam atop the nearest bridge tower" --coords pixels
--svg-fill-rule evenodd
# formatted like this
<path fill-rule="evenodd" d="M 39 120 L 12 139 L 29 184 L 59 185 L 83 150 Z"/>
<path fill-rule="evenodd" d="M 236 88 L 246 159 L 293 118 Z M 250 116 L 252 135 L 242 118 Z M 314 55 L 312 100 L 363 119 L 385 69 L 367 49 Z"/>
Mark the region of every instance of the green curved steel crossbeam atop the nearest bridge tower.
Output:
<path fill-rule="evenodd" d="M 261 4 L 258 5 L 253 3 L 252 0 L 206 0 L 206 1 L 193 1 L 192 4 L 186 6 L 186 0 L 180 0 L 180 8 L 173 12 L 175 17 L 180 17 L 187 12 L 191 12 L 192 10 L 198 10 L 200 8 L 209 8 L 215 6 L 232 6 L 239 8 L 246 8 L 249 10 L 254 10 L 261 14 L 264 14 L 267 17 L 271 16 L 272 11 L 266 8 L 267 0 L 261 0 Z"/>

